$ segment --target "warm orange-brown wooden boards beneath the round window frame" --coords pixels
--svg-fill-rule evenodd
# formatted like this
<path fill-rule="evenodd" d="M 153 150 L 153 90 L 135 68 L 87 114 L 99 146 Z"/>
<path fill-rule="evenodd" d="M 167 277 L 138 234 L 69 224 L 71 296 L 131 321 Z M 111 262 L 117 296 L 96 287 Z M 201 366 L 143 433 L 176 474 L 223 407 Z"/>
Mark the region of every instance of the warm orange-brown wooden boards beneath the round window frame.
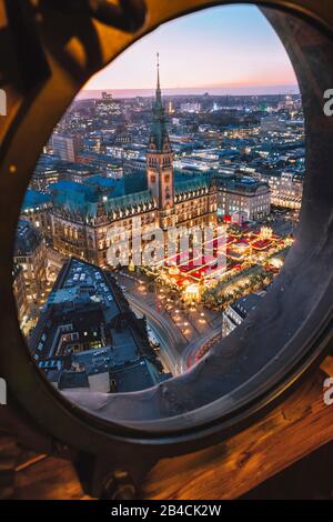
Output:
<path fill-rule="evenodd" d="M 323 402 L 329 358 L 315 378 L 263 420 L 191 455 L 160 461 L 147 476 L 142 499 L 234 499 L 333 440 L 333 406 Z M 48 458 L 17 473 L 21 499 L 87 499 L 69 462 Z"/>

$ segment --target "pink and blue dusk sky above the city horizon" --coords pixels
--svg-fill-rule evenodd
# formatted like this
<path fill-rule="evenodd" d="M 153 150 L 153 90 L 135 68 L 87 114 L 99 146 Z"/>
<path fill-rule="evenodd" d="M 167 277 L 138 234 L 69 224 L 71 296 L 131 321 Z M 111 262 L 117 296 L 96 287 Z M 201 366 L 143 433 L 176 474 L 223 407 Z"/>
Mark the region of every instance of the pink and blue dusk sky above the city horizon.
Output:
<path fill-rule="evenodd" d="M 297 92 L 280 39 L 259 9 L 250 6 L 211 8 L 164 24 L 95 74 L 84 89 L 149 96 L 140 90 L 155 86 L 158 51 L 167 94 Z"/>

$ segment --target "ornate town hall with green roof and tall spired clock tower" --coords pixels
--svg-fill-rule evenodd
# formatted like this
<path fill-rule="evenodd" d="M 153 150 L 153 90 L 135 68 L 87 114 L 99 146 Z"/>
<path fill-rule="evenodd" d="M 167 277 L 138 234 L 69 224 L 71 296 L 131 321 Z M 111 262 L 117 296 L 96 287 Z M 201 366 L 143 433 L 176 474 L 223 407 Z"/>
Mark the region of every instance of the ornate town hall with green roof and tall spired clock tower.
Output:
<path fill-rule="evenodd" d="M 53 247 L 64 255 L 107 267 L 110 238 L 118 241 L 122 229 L 131 242 L 133 220 L 138 218 L 142 233 L 151 234 L 151 240 L 158 228 L 167 231 L 215 223 L 218 192 L 210 178 L 174 175 L 159 64 L 143 190 L 130 192 L 124 180 L 95 178 L 81 184 L 62 181 L 54 188 Z"/>

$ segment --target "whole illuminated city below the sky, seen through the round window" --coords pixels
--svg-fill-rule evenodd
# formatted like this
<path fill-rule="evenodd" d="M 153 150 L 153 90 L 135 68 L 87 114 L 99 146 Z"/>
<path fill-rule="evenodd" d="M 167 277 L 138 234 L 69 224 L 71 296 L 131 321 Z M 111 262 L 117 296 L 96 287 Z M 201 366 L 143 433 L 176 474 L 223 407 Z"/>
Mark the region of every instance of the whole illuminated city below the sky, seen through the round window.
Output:
<path fill-rule="evenodd" d="M 74 102 L 24 199 L 19 319 L 61 391 L 135 391 L 191 367 L 242 322 L 294 242 L 300 96 L 164 99 L 162 67 L 153 99 Z"/>

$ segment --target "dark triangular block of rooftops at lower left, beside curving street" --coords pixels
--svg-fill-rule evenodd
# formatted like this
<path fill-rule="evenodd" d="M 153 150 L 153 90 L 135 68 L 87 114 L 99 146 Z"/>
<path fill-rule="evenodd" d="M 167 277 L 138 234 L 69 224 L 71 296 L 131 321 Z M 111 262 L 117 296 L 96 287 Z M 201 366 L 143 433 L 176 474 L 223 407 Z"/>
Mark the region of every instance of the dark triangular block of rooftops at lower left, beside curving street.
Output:
<path fill-rule="evenodd" d="M 29 345 L 38 365 L 59 389 L 77 388 L 79 377 L 71 374 L 78 368 L 88 377 L 109 372 L 121 391 L 150 388 L 161 374 L 145 325 L 135 318 L 117 282 L 98 267 L 74 258 L 62 268 Z M 80 379 L 87 384 L 85 378 Z"/>

